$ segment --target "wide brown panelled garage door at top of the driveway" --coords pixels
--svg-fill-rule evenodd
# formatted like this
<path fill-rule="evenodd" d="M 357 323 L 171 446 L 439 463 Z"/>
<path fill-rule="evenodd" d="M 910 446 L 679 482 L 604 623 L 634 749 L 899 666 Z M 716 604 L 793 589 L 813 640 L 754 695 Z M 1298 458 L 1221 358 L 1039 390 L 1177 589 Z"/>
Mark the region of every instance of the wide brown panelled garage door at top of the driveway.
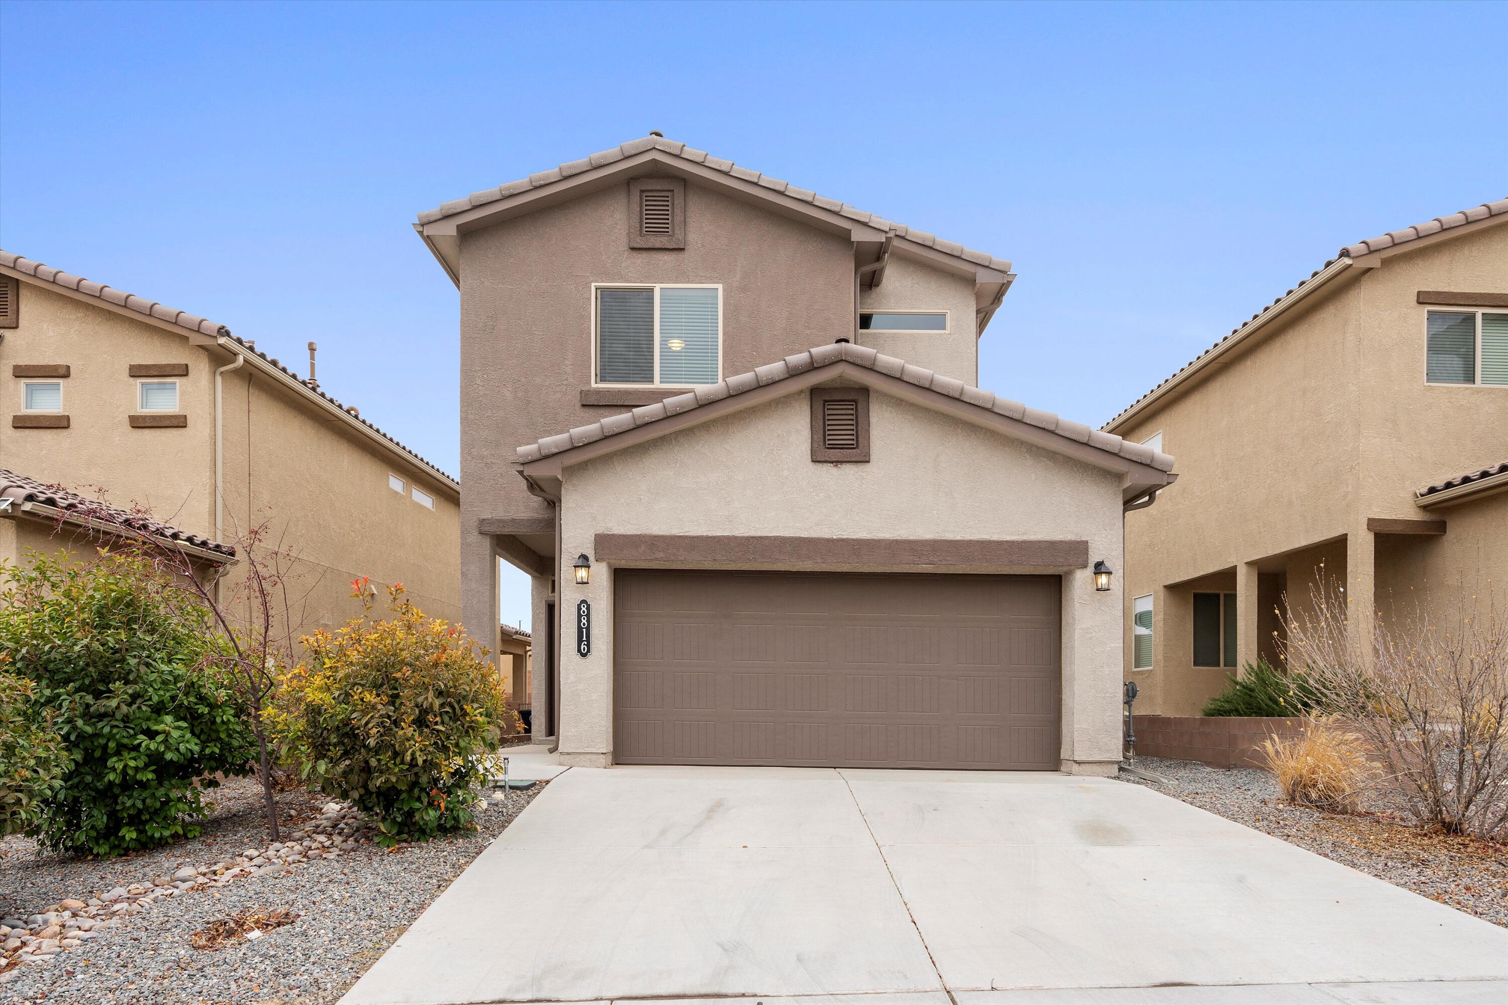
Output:
<path fill-rule="evenodd" d="M 620 570 L 620 764 L 1059 767 L 1059 579 Z"/>

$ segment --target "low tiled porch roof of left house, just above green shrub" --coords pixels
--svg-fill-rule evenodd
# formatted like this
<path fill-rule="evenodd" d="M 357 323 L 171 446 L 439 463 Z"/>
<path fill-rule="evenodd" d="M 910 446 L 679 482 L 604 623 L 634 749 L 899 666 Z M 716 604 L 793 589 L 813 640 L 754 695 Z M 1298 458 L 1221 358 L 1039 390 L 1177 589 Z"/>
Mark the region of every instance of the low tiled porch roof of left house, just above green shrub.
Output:
<path fill-rule="evenodd" d="M 0 562 L 24 564 L 30 551 L 93 550 L 115 538 L 116 524 L 149 533 L 181 551 L 201 582 L 213 583 L 235 565 L 235 548 L 229 544 L 0 467 Z"/>

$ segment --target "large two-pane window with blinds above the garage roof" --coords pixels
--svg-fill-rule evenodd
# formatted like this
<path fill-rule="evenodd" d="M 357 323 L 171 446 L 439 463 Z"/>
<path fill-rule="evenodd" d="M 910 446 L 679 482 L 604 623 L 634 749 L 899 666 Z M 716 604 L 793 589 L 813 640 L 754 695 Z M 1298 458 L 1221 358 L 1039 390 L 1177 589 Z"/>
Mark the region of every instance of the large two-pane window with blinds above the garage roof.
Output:
<path fill-rule="evenodd" d="M 593 383 L 694 387 L 722 380 L 722 286 L 593 283 Z"/>

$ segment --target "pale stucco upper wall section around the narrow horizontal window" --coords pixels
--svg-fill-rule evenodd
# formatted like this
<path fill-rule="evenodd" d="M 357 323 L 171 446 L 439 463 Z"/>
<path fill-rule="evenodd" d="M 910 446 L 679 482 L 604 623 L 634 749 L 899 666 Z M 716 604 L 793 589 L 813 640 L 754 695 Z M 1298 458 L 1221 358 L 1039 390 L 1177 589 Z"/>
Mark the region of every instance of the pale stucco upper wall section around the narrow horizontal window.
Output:
<path fill-rule="evenodd" d="M 973 279 L 893 253 L 879 286 L 860 291 L 860 310 L 947 310 L 947 334 L 864 331 L 858 342 L 885 356 L 979 386 Z"/>

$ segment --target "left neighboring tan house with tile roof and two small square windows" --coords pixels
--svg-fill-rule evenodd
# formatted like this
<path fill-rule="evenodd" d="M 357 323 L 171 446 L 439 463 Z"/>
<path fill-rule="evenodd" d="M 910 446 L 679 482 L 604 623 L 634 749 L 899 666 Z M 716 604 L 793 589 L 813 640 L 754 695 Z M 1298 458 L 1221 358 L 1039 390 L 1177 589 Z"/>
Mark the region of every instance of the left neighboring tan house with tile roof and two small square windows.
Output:
<path fill-rule="evenodd" d="M 360 576 L 458 618 L 460 485 L 312 378 L 216 322 L 5 252 L 0 325 L 5 467 L 214 541 L 270 523 L 268 544 L 299 556 L 296 633 L 360 613 Z"/>

